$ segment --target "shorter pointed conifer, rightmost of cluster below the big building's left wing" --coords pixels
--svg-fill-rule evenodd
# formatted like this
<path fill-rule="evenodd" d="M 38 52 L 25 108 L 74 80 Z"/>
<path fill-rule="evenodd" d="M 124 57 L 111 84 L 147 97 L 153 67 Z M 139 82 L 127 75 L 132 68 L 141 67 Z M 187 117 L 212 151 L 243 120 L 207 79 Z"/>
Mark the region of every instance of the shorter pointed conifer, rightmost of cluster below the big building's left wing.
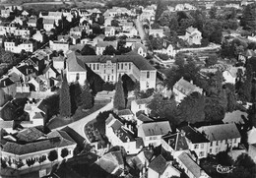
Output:
<path fill-rule="evenodd" d="M 88 81 L 85 81 L 85 85 L 82 88 L 81 99 L 82 99 L 84 109 L 90 109 L 94 106 L 93 95 L 91 93 Z"/>

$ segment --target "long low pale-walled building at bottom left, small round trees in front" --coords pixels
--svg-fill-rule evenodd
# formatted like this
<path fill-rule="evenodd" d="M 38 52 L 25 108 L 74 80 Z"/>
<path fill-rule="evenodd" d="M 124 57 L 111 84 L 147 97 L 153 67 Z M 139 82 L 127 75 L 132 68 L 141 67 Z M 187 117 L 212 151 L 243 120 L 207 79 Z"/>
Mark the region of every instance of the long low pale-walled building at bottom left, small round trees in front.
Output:
<path fill-rule="evenodd" d="M 39 129 L 32 127 L 18 132 L 15 136 L 5 136 L 1 141 L 1 158 L 12 168 L 28 169 L 30 161 L 35 165 L 49 164 L 49 152 L 57 151 L 55 161 L 63 159 L 63 151 L 67 151 L 65 158 L 73 157 L 77 144 L 64 131 L 53 131 L 45 135 Z M 42 157 L 43 161 L 42 161 Z M 38 166 L 39 167 L 39 166 Z"/>

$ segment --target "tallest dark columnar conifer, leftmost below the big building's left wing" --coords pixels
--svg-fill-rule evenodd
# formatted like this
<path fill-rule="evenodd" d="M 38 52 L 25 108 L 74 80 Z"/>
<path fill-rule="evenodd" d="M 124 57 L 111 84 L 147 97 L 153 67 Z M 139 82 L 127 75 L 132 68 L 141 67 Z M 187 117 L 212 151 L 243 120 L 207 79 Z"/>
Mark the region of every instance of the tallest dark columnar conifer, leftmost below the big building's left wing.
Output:
<path fill-rule="evenodd" d="M 71 116 L 70 92 L 69 92 L 67 77 L 65 74 L 63 75 L 59 97 L 60 97 L 59 98 L 60 115 L 62 117 L 70 117 Z"/>

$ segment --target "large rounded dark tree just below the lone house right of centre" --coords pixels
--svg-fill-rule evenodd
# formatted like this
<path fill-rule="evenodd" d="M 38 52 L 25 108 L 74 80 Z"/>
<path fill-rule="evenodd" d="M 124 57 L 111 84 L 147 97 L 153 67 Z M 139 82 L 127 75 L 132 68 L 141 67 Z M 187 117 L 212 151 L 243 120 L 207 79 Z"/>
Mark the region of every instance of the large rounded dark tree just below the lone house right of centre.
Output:
<path fill-rule="evenodd" d="M 192 92 L 177 107 L 178 118 L 189 123 L 202 122 L 205 119 L 205 96 Z"/>

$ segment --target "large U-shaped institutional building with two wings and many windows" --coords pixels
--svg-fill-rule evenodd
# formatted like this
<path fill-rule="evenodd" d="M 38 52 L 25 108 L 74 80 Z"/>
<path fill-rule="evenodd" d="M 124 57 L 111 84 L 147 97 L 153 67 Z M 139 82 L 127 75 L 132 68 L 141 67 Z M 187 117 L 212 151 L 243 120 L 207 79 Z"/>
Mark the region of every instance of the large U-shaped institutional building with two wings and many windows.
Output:
<path fill-rule="evenodd" d="M 86 78 L 82 81 L 80 73 L 86 74 L 85 65 L 105 82 L 116 83 L 119 75 L 127 74 L 140 83 L 141 90 L 156 88 L 157 70 L 140 55 L 76 56 L 72 52 L 67 59 L 68 82 L 79 79 L 84 84 Z"/>

